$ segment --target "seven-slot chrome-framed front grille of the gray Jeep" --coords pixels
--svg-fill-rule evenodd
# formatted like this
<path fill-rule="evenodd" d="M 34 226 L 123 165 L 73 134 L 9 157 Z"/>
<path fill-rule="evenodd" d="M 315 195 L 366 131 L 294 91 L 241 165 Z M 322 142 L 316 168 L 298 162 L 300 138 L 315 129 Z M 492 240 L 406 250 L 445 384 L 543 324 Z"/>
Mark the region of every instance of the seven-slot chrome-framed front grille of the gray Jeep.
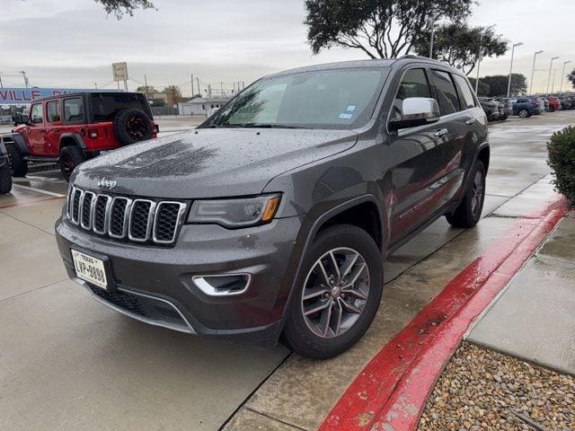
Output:
<path fill-rule="evenodd" d="M 85 231 L 116 240 L 172 244 L 183 221 L 184 202 L 109 196 L 73 187 L 68 219 Z"/>

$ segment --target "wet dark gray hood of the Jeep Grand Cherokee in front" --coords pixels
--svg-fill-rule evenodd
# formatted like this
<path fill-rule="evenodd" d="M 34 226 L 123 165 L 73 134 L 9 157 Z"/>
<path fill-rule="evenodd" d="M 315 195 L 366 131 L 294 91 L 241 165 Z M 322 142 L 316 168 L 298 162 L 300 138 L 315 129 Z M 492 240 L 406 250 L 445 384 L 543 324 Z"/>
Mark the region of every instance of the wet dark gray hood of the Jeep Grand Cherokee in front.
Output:
<path fill-rule="evenodd" d="M 81 164 L 73 181 L 87 189 L 115 181 L 111 192 L 147 198 L 256 195 L 279 174 L 341 153 L 357 138 L 349 130 L 200 128 L 103 154 Z"/>

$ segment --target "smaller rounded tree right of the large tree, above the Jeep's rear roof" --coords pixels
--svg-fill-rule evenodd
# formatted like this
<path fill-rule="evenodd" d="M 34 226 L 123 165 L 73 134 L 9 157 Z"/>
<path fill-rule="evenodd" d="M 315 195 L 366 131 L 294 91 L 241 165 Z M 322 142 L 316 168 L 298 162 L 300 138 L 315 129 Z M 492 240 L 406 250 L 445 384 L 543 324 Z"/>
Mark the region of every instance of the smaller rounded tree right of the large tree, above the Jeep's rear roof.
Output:
<path fill-rule="evenodd" d="M 414 45 L 420 56 L 429 57 L 431 31 L 421 33 Z M 469 75 L 483 57 L 500 57 L 507 52 L 508 42 L 491 27 L 470 27 L 465 22 L 441 25 L 433 40 L 433 57 Z M 480 51 L 481 48 L 481 51 Z"/>

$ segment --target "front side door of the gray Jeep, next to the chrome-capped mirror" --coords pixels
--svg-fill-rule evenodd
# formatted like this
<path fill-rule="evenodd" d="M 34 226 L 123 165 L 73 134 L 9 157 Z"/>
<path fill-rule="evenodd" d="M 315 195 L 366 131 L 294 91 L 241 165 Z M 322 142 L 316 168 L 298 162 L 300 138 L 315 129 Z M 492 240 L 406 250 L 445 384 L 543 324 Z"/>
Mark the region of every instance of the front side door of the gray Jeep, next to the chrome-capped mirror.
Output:
<path fill-rule="evenodd" d="M 411 67 L 403 72 L 390 119 L 401 118 L 403 100 L 409 97 L 436 98 L 432 71 L 426 67 Z M 452 101 L 453 103 L 453 101 Z M 390 240 L 400 241 L 406 234 L 425 224 L 429 217 L 445 205 L 443 198 L 450 173 L 459 163 L 460 152 L 454 144 L 455 129 L 446 103 L 441 119 L 434 124 L 405 128 L 390 133 L 392 168 L 393 214 Z M 451 109 L 459 110 L 459 101 Z"/>

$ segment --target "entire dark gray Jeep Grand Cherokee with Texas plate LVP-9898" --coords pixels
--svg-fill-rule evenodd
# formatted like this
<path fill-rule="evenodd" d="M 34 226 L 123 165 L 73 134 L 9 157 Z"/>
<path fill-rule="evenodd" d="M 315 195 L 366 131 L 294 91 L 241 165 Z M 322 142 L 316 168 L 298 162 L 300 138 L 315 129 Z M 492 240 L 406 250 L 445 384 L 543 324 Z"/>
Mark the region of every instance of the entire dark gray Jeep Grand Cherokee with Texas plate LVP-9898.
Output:
<path fill-rule="evenodd" d="M 59 251 L 140 321 L 335 356 L 374 319 L 385 256 L 440 216 L 479 221 L 486 124 L 464 75 L 421 57 L 270 75 L 80 165 Z"/>

